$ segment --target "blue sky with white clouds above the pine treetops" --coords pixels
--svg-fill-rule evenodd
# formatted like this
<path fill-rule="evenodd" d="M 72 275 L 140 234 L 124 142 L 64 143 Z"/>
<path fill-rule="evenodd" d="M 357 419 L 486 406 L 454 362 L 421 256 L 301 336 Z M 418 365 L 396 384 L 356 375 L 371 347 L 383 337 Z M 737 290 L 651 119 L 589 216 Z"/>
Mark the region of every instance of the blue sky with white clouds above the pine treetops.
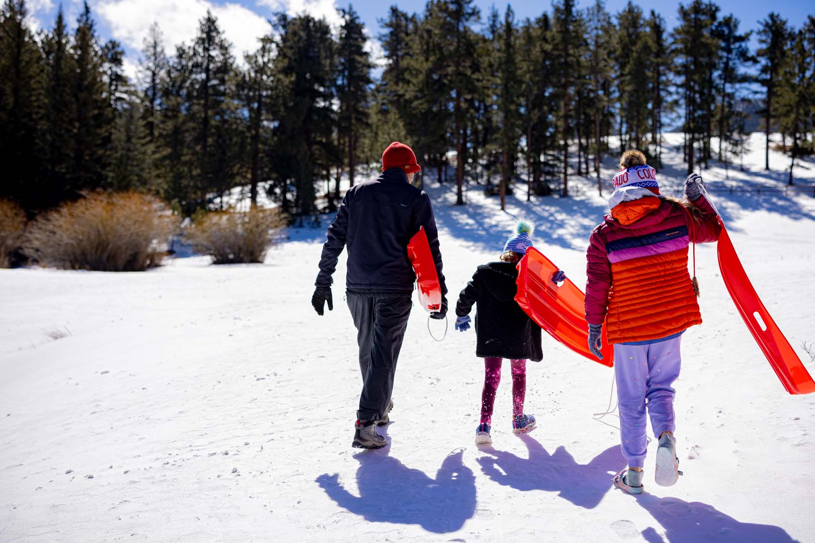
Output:
<path fill-rule="evenodd" d="M 257 37 L 267 33 L 267 19 L 275 11 L 286 11 L 290 14 L 306 11 L 315 16 L 325 16 L 329 23 L 337 24 L 336 7 L 345 7 L 348 2 L 335 0 L 90 0 L 91 11 L 99 24 L 99 34 L 103 40 L 117 39 L 127 52 L 126 68 L 133 73 L 138 63 L 138 50 L 143 36 L 153 21 L 158 21 L 165 34 L 167 50 L 170 52 L 178 42 L 189 42 L 196 33 L 197 20 L 207 9 L 214 11 L 226 33 L 227 38 L 235 45 L 238 56 L 245 50 L 253 50 Z M 422 11 L 425 2 L 421 0 L 356 0 L 350 2 L 359 12 L 368 27 L 371 36 L 381 32 L 377 22 L 385 17 L 390 6 L 396 3 L 404 11 Z M 507 3 L 504 1 L 476 0 L 482 10 L 482 19 L 492 5 L 503 13 Z M 534 18 L 543 11 L 551 11 L 551 2 L 509 2 L 516 17 L 522 20 Z M 608 0 L 606 9 L 612 14 L 623 9 L 624 0 Z M 676 24 L 676 11 L 680 2 L 635 2 L 646 13 L 651 9 L 658 11 L 667 21 L 668 28 Z M 687 3 L 687 2 L 685 2 Z M 774 2 L 738 2 L 723 0 L 717 2 L 723 15 L 734 13 L 742 21 L 742 28 L 756 28 L 757 21 L 764 19 L 770 10 L 778 11 L 795 27 L 800 27 L 808 13 L 815 13 L 815 4 L 810 2 L 793 2 L 792 0 L 775 0 Z M 51 28 L 56 15 L 59 0 L 29 0 L 31 23 L 37 28 Z M 68 23 L 73 25 L 81 9 L 81 0 L 63 0 L 62 2 Z M 588 7 L 593 2 L 578 2 L 578 7 Z M 755 44 L 754 44 L 755 46 Z M 378 47 L 372 47 L 377 53 Z"/>

